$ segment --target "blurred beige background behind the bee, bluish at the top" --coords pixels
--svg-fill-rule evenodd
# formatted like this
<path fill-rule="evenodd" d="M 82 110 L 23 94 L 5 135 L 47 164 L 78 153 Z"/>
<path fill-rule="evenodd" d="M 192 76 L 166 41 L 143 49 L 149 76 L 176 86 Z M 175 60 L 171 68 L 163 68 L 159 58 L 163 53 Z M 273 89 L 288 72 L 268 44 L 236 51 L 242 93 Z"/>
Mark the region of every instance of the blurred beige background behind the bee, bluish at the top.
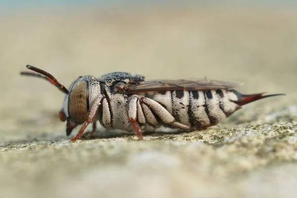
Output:
<path fill-rule="evenodd" d="M 65 138 L 57 116 L 63 94 L 44 80 L 20 76 L 27 64 L 66 87 L 78 76 L 111 71 L 147 80 L 242 81 L 238 91 L 246 94 L 287 94 L 249 104 L 245 121 L 284 108 L 296 113 L 297 3 L 0 0 L 1 142 L 45 132 Z"/>

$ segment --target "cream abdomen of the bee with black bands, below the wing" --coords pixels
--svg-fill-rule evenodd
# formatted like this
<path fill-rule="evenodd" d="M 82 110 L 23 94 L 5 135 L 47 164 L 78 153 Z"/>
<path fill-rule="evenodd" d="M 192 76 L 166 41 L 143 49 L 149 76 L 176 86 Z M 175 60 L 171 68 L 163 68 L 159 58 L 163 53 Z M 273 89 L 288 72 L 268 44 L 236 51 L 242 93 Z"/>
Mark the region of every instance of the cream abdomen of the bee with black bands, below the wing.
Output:
<path fill-rule="evenodd" d="M 218 123 L 240 107 L 234 90 L 167 91 L 155 93 L 151 99 L 163 105 L 177 122 L 196 127 Z"/>

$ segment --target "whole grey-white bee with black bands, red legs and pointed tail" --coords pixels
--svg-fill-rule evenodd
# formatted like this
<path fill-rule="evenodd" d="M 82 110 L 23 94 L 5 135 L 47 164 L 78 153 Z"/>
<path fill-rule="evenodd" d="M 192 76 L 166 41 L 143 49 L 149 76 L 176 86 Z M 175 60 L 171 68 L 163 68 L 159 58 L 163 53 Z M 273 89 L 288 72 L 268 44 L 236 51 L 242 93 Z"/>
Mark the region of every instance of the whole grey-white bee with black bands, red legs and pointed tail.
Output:
<path fill-rule="evenodd" d="M 58 115 L 67 121 L 66 135 L 82 125 L 70 142 L 80 139 L 91 123 L 90 134 L 95 133 L 97 120 L 107 130 L 134 131 L 139 140 L 143 140 L 143 130 L 154 132 L 160 126 L 201 131 L 247 103 L 284 95 L 244 95 L 234 90 L 239 83 L 208 79 L 145 81 L 144 76 L 127 72 L 111 72 L 99 78 L 80 76 L 68 90 L 48 72 L 26 67 L 34 72 L 21 75 L 46 79 L 65 94 Z"/>

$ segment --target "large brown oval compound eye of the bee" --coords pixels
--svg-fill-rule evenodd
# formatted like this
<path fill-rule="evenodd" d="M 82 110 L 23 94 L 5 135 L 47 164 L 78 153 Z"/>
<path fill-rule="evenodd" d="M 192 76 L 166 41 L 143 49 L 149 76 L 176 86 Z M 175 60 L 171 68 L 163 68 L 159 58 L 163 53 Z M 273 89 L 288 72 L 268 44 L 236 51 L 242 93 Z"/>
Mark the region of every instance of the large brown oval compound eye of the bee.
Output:
<path fill-rule="evenodd" d="M 89 110 L 89 82 L 78 81 L 70 90 L 68 98 L 68 112 L 72 120 L 82 124 L 87 120 Z"/>

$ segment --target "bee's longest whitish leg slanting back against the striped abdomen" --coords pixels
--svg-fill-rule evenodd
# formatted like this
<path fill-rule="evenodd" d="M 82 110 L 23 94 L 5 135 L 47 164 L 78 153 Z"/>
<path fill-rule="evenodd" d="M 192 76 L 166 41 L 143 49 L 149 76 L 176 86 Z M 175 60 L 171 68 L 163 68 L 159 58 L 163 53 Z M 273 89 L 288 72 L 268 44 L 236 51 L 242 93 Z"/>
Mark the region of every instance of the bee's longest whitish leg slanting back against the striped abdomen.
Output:
<path fill-rule="evenodd" d="M 153 112 L 162 120 L 164 124 L 168 124 L 174 128 L 179 128 L 184 131 L 190 131 L 190 126 L 177 122 L 173 115 L 171 115 L 166 108 L 164 108 L 155 100 L 144 97 L 140 99 L 140 102 L 146 104 L 149 109 L 153 110 Z"/>

